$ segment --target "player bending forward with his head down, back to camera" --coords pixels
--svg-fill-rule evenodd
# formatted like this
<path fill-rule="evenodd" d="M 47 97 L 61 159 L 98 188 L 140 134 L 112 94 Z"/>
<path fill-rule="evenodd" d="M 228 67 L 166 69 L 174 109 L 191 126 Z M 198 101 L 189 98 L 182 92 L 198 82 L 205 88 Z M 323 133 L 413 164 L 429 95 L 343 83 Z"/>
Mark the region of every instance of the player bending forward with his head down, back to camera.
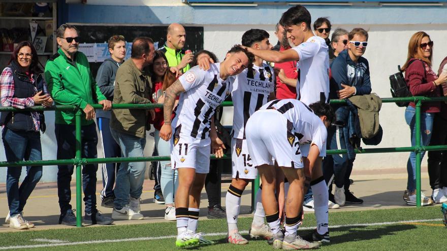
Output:
<path fill-rule="evenodd" d="M 307 106 L 296 99 L 270 101 L 248 119 L 245 126 L 248 152 L 261 176 L 262 204 L 274 248 L 311 249 L 321 244 L 301 239 L 297 229 L 302 219 L 305 187 L 309 187 L 311 175 L 315 172 L 321 175 L 318 156 L 326 155 L 327 127 L 333 119 L 329 104 L 316 102 Z M 279 229 L 278 201 L 284 200 L 283 192 L 279 191 L 282 198 L 278 196 L 278 201 L 275 195 L 276 179 L 283 178 L 275 173 L 275 166 L 290 183 L 285 204 L 285 236 Z"/>

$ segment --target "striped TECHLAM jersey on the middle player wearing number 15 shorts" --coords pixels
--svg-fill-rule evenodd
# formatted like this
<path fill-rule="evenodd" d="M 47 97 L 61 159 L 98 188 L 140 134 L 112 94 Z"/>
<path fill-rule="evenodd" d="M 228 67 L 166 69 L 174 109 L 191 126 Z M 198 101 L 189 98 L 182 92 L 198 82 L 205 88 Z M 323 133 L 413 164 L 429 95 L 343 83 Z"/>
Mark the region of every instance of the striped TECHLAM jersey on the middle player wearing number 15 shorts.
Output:
<path fill-rule="evenodd" d="M 274 91 L 275 73 L 268 64 L 253 65 L 236 76 L 231 96 L 233 99 L 233 137 L 245 138 L 244 128 L 248 118 L 267 103 Z"/>

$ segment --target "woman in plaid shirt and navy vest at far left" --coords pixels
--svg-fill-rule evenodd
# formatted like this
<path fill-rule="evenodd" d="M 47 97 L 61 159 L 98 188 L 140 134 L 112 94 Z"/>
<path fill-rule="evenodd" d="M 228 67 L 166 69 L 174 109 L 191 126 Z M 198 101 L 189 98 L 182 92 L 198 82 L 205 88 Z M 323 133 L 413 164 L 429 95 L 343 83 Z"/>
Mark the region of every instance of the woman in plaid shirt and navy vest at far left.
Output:
<path fill-rule="evenodd" d="M 47 92 L 39 58 L 33 44 L 20 42 L 11 55 L 8 66 L 0 76 L 2 106 L 24 109 L 33 105 L 50 106 L 53 99 Z M 42 160 L 40 132 L 45 132 L 43 112 L 3 112 L 0 125 L 8 162 Z M 10 228 L 34 228 L 23 219 L 23 207 L 31 192 L 42 177 L 42 166 L 27 166 L 26 176 L 19 187 L 22 167 L 8 166 L 6 193 L 9 212 L 6 223 Z"/>

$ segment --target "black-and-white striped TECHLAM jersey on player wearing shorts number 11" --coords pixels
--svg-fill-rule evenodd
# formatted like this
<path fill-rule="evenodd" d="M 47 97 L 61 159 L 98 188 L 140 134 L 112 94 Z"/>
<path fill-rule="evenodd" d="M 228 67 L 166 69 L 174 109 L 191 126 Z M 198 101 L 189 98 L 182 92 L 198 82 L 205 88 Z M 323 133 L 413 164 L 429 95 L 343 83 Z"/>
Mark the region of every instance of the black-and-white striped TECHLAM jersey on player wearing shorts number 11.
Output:
<path fill-rule="evenodd" d="M 220 78 L 220 63 L 210 65 L 209 70 L 195 66 L 178 79 L 185 92 L 180 94 L 174 111 L 172 126 L 180 134 L 194 138 L 208 138 L 211 117 L 217 106 L 230 94 L 235 77 Z"/>

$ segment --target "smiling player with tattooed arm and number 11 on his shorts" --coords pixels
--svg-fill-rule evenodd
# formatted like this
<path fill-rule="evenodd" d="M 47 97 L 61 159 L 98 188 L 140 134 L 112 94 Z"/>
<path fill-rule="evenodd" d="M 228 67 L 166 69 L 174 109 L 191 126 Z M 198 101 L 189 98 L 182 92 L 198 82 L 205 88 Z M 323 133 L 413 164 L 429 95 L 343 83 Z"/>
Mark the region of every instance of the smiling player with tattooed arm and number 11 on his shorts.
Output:
<path fill-rule="evenodd" d="M 171 141 L 172 166 L 178 168 L 179 185 L 175 195 L 177 219 L 176 246 L 212 243 L 196 233 L 199 218 L 200 193 L 209 171 L 211 149 L 217 157 L 223 155 L 223 142 L 217 137 L 212 120 L 216 107 L 232 90 L 235 76 L 253 61 L 253 55 L 234 46 L 222 63 L 202 70 L 195 66 L 166 90 L 165 124 L 160 137 Z M 171 115 L 176 96 L 180 95 L 175 117 Z"/>

